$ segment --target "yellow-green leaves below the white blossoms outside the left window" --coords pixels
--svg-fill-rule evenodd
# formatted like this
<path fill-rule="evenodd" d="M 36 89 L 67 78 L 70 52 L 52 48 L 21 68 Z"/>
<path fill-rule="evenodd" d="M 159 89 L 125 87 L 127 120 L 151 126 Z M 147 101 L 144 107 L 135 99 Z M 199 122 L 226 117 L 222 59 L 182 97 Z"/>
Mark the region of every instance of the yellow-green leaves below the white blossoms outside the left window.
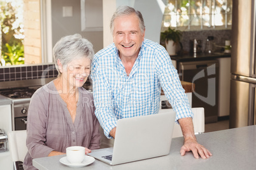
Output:
<path fill-rule="evenodd" d="M 2 51 L 3 58 L 6 65 L 24 64 L 24 46 L 21 44 L 14 44 L 10 46 L 6 43 L 7 50 Z"/>

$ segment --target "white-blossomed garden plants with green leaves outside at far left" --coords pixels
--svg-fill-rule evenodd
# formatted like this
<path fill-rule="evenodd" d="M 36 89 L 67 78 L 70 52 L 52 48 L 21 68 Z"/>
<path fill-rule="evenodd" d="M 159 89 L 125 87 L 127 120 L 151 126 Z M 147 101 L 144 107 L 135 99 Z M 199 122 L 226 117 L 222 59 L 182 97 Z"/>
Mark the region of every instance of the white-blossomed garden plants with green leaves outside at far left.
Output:
<path fill-rule="evenodd" d="M 24 63 L 23 4 L 20 0 L 0 0 L 0 65 Z"/>

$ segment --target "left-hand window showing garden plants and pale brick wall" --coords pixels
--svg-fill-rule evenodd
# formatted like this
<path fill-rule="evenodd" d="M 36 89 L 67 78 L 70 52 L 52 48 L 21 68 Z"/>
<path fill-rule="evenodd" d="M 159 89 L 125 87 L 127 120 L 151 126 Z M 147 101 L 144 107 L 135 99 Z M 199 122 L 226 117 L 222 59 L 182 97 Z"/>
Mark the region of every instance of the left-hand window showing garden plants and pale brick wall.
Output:
<path fill-rule="evenodd" d="M 51 0 L 0 0 L 0 7 L 0 66 L 52 62 Z"/>

